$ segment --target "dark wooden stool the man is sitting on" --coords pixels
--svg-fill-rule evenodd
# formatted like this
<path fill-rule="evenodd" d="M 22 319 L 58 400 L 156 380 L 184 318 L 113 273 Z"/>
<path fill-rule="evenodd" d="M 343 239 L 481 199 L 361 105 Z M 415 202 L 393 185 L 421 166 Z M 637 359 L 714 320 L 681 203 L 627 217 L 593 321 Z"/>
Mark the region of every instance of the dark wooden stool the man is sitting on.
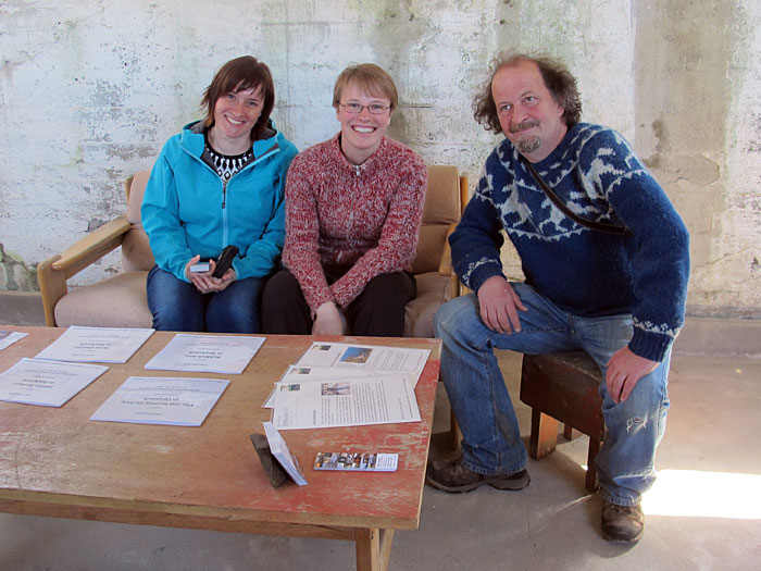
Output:
<path fill-rule="evenodd" d="M 532 408 L 528 454 L 535 460 L 554 451 L 558 422 L 565 424 L 564 435 L 574 430 L 589 436 L 585 487 L 597 489 L 595 457 L 606 436 L 602 418 L 600 368 L 584 351 L 524 355 L 521 371 L 521 400 Z"/>

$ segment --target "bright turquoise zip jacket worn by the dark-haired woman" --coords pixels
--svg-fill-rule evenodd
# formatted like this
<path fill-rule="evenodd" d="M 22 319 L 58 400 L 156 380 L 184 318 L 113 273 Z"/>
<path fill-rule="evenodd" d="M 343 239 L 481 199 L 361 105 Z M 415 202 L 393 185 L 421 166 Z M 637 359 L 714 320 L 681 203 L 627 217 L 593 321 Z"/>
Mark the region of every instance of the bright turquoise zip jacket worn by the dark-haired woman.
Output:
<path fill-rule="evenodd" d="M 190 123 L 166 141 L 142 199 L 142 226 L 155 263 L 187 282 L 194 256 L 216 258 L 228 245 L 238 280 L 275 268 L 285 241 L 285 182 L 298 152 L 280 133 L 253 142 L 253 159 L 226 184 L 201 159 L 203 131 Z"/>

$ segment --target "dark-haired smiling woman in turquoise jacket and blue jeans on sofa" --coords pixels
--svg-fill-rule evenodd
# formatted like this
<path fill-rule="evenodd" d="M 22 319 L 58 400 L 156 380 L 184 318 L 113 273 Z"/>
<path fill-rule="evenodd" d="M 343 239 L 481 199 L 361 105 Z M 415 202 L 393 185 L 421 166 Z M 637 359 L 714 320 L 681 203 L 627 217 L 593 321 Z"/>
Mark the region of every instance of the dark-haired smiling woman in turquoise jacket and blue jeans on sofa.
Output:
<path fill-rule="evenodd" d="M 284 187 L 296 147 L 270 113 L 267 66 L 246 55 L 216 73 L 203 121 L 164 145 L 142 200 L 155 265 L 148 274 L 153 327 L 259 333 L 259 305 L 285 239 Z M 232 266 L 212 275 L 227 246 Z M 210 260 L 208 270 L 199 262 Z"/>

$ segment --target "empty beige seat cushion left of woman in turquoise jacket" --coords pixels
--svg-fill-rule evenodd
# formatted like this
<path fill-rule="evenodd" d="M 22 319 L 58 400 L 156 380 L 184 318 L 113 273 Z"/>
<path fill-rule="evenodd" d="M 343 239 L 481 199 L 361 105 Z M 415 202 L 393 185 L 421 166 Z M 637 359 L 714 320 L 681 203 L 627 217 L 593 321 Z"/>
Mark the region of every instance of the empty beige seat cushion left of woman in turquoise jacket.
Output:
<path fill-rule="evenodd" d="M 148 272 L 123 272 L 97 284 L 71 289 L 55 303 L 59 327 L 150 327 Z"/>

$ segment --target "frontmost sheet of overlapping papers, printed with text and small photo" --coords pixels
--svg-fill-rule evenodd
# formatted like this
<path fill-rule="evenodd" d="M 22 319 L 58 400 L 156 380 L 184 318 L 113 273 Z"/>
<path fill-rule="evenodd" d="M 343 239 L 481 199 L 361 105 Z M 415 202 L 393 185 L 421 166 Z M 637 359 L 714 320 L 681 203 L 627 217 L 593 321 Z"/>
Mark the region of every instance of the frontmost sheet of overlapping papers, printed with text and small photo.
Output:
<path fill-rule="evenodd" d="M 404 374 L 280 382 L 272 423 L 279 430 L 417 422 L 414 388 Z"/>

